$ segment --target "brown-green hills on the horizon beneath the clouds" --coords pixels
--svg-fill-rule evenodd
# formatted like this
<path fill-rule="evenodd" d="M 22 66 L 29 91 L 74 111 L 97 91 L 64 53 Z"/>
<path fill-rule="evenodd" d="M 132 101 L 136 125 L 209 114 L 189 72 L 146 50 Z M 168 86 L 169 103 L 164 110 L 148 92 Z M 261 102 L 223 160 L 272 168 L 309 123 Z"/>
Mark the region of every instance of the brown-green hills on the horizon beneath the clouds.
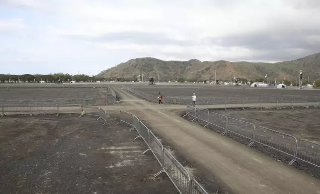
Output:
<path fill-rule="evenodd" d="M 213 80 L 215 71 L 217 80 L 230 80 L 234 77 L 244 79 L 264 79 L 267 74 L 270 79 L 285 78 L 295 81 L 299 79 L 299 71 L 303 71 L 303 78 L 320 79 L 320 53 L 303 58 L 277 63 L 265 62 L 229 62 L 229 61 L 163 61 L 157 58 L 135 58 L 106 69 L 96 75 L 100 78 L 125 77 L 132 78 L 143 74 L 145 78 L 160 76 L 160 81 L 174 81 L 179 77 L 185 79 Z"/>

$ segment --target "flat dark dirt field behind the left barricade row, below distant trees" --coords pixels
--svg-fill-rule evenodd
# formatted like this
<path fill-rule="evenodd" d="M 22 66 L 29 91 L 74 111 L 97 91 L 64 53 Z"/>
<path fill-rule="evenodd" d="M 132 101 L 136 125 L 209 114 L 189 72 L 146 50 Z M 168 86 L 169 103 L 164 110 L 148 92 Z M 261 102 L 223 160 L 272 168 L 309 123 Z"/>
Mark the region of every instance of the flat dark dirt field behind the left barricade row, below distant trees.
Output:
<path fill-rule="evenodd" d="M 1 100 L 2 99 L 2 100 Z M 51 100 L 49 100 L 51 99 Z M 0 88 L 0 104 L 5 103 L 64 103 L 83 104 L 87 99 L 89 105 L 106 105 L 113 103 L 107 88 Z"/>

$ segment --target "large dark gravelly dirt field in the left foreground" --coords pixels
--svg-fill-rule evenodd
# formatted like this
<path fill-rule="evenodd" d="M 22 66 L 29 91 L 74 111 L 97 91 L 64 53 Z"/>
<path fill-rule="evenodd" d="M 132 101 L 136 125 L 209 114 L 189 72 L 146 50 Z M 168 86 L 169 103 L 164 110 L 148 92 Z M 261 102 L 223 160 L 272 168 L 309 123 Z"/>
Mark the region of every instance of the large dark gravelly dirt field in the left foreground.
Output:
<path fill-rule="evenodd" d="M 175 194 L 136 132 L 84 115 L 0 118 L 1 194 Z"/>

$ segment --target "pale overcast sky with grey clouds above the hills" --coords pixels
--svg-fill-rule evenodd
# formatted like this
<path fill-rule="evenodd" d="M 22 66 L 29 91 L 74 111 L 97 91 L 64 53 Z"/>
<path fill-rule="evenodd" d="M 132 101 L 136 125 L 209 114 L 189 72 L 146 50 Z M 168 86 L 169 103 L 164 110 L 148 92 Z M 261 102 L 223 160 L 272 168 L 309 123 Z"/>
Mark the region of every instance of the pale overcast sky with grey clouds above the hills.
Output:
<path fill-rule="evenodd" d="M 131 58 L 320 52 L 320 0 L 0 0 L 0 74 L 95 75 Z"/>

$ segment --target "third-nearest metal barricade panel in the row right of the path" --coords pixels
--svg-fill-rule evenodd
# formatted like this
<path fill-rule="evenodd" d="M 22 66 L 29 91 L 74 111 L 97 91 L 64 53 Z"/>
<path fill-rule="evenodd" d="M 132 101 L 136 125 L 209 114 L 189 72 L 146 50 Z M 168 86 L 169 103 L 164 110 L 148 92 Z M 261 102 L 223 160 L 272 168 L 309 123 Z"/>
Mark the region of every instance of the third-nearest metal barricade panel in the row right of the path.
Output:
<path fill-rule="evenodd" d="M 252 123 L 229 117 L 227 131 L 247 138 L 253 143 L 255 127 Z"/>

